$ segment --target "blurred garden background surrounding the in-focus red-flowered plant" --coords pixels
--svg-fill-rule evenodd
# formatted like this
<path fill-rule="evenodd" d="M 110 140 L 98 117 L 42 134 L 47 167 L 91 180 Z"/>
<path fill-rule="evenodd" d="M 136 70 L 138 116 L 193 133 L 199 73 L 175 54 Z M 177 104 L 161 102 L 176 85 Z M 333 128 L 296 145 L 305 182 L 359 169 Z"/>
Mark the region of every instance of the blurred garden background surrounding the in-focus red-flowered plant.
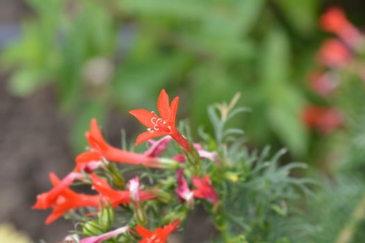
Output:
<path fill-rule="evenodd" d="M 321 27 L 331 6 L 359 41 Z M 72 169 L 91 117 L 111 144 L 121 128 L 132 141 L 140 126 L 127 111 L 156 109 L 165 88 L 192 131 L 211 131 L 206 107 L 241 92 L 252 112 L 234 125 L 247 145 L 286 147 L 287 162 L 323 181 L 307 206 L 322 232 L 312 242 L 349 227 L 348 242 L 362 242 L 364 10 L 362 0 L 0 0 L 0 223 L 62 240 L 72 224 L 45 227 L 48 211 L 31 210 L 49 171 Z"/>

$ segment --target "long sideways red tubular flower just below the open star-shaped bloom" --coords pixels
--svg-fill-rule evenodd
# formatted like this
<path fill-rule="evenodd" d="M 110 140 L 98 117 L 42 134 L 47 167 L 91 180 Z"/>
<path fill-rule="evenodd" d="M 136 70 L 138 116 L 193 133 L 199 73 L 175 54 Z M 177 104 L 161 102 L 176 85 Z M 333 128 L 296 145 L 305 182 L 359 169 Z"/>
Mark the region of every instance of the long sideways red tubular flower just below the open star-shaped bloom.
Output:
<path fill-rule="evenodd" d="M 74 171 L 80 171 L 90 162 L 99 162 L 102 158 L 129 165 L 143 165 L 146 167 L 168 166 L 168 164 L 163 163 L 160 158 L 152 158 L 140 153 L 124 151 L 107 144 L 99 130 L 97 121 L 94 118 L 91 119 L 90 131 L 87 131 L 85 135 L 88 144 L 90 145 L 90 151 L 81 153 L 76 157 L 76 167 Z"/>

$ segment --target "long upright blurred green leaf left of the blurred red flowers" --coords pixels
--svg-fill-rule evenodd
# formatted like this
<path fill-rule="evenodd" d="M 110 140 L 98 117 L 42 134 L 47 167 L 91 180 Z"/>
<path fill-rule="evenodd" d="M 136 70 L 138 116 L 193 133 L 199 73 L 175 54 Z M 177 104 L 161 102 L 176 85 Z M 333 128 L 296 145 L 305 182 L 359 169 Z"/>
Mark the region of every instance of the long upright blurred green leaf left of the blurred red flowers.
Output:
<path fill-rule="evenodd" d="M 263 99 L 268 102 L 268 122 L 273 131 L 298 156 L 307 150 L 307 133 L 300 120 L 301 93 L 289 83 L 290 48 L 285 33 L 273 28 L 266 37 L 261 59 Z"/>

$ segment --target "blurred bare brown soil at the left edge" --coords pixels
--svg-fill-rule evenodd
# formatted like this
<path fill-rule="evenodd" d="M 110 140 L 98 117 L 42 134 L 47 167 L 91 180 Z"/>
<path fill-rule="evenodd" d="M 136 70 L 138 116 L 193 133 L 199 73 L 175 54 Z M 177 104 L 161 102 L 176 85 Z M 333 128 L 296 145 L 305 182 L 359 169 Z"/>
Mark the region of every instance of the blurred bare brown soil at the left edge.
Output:
<path fill-rule="evenodd" d="M 50 188 L 49 171 L 64 176 L 72 169 L 65 124 L 51 89 L 18 99 L 0 78 L 0 222 L 14 224 L 35 242 L 63 239 L 72 227 L 62 219 L 46 228 L 49 210 L 31 210 L 36 195 Z"/>

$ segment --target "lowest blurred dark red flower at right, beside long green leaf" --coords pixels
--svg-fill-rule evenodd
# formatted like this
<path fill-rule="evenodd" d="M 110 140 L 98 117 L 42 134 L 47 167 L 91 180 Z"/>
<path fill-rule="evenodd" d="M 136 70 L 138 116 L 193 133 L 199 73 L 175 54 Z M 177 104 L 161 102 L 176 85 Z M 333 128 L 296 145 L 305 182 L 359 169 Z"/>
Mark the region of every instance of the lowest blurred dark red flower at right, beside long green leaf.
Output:
<path fill-rule="evenodd" d="M 330 133 L 344 122 L 341 111 L 336 108 L 307 106 L 302 114 L 305 124 L 317 128 L 323 134 Z"/>

